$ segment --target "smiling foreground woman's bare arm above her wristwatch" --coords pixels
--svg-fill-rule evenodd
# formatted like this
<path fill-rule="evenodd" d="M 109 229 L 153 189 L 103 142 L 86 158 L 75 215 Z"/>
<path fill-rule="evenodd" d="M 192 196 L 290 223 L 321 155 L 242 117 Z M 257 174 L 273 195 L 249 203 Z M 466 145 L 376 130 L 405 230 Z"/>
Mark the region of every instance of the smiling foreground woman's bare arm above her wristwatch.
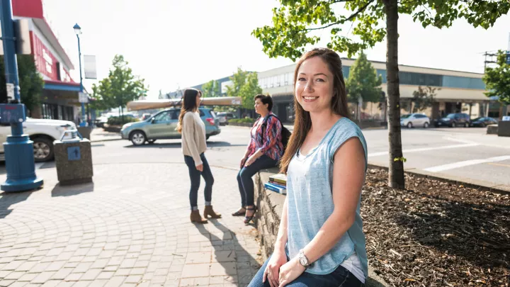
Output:
<path fill-rule="evenodd" d="M 353 225 L 364 180 L 365 152 L 358 137 L 351 137 L 334 155 L 333 213 L 303 249 L 310 262 L 329 252 Z"/>

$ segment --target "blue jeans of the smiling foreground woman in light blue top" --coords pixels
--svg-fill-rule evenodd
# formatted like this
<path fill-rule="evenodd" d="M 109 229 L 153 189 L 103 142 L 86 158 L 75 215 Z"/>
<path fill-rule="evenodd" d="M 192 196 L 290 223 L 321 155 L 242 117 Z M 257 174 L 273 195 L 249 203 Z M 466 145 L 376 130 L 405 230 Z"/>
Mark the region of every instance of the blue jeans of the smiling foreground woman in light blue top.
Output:
<path fill-rule="evenodd" d="M 269 257 L 271 259 L 271 257 Z M 251 279 L 248 287 L 271 287 L 269 281 L 266 279 L 265 283 L 262 283 L 263 272 L 266 270 L 269 259 L 263 264 L 259 272 L 255 274 L 254 278 Z M 290 282 L 287 286 L 289 287 L 363 287 L 365 284 L 356 278 L 351 272 L 344 268 L 344 266 L 338 266 L 333 272 L 326 275 L 314 275 L 307 272 L 301 274 L 294 281 Z"/>

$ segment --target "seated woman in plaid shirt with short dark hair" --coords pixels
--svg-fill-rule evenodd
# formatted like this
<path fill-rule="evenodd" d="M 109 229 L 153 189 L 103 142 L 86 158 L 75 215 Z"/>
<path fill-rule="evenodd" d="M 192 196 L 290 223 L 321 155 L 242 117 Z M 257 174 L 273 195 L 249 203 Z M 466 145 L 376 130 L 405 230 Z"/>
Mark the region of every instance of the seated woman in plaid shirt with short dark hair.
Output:
<path fill-rule="evenodd" d="M 241 208 L 232 213 L 233 216 L 244 215 L 244 223 L 248 224 L 256 212 L 254 205 L 254 176 L 261 169 L 276 167 L 283 155 L 281 139 L 282 125 L 274 113 L 271 96 L 255 96 L 255 112 L 259 119 L 251 128 L 251 137 L 246 154 L 241 159 L 241 170 L 237 174 L 239 193 L 241 193 Z"/>

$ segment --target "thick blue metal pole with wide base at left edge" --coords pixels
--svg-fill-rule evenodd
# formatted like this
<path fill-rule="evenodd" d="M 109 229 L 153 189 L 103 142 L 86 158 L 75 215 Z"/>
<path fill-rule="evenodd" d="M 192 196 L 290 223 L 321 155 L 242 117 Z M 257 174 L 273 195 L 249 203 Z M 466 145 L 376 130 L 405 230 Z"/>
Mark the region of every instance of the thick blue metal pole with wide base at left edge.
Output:
<path fill-rule="evenodd" d="M 10 109 L 21 113 L 18 122 L 11 122 L 12 135 L 9 135 L 7 142 L 4 142 L 7 179 L 1 184 L 1 190 L 28 191 L 42 186 L 42 179 L 38 179 L 35 175 L 33 142 L 28 138 L 28 135 L 23 134 L 23 121 L 26 119 L 25 105 L 21 103 L 18 86 L 18 64 L 14 47 L 11 0 L 1 0 L 0 17 L 6 84 L 14 85 L 14 104 L 5 106 L 8 106 L 6 110 Z"/>

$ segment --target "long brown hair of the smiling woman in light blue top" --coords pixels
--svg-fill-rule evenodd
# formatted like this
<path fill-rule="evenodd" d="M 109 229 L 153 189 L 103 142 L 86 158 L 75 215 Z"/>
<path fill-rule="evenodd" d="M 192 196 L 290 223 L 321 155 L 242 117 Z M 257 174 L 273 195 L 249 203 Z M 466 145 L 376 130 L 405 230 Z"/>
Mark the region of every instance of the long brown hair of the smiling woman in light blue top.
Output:
<path fill-rule="evenodd" d="M 307 136 L 310 128 L 312 128 L 312 119 L 310 113 L 305 111 L 295 97 L 295 83 L 297 81 L 297 73 L 301 64 L 312 57 L 320 57 L 329 67 L 329 72 L 333 74 L 333 98 L 331 99 L 330 108 L 336 115 L 348 118 L 347 95 L 345 90 L 344 74 L 342 73 L 341 60 L 338 54 L 327 48 L 314 48 L 302 55 L 297 62 L 294 71 L 294 130 L 290 135 L 285 154 L 280 160 L 280 172 L 287 173 L 290 160 L 294 157 Z"/>

